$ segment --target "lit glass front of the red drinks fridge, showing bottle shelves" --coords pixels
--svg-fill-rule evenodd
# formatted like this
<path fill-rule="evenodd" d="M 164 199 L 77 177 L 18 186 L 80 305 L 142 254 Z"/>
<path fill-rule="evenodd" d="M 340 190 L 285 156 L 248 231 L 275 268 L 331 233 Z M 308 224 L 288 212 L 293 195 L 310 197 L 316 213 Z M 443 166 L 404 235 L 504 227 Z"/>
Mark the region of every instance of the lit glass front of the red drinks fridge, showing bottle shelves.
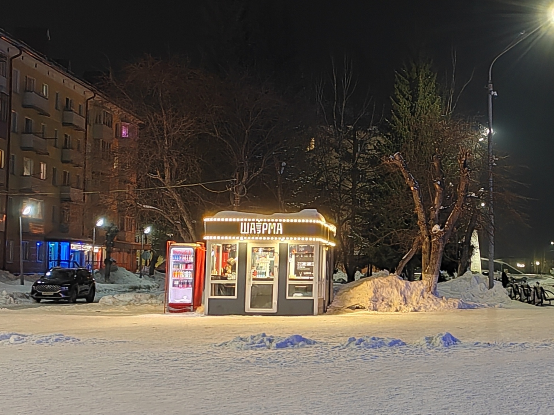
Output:
<path fill-rule="evenodd" d="M 170 248 L 169 303 L 192 304 L 194 284 L 194 248 Z"/>

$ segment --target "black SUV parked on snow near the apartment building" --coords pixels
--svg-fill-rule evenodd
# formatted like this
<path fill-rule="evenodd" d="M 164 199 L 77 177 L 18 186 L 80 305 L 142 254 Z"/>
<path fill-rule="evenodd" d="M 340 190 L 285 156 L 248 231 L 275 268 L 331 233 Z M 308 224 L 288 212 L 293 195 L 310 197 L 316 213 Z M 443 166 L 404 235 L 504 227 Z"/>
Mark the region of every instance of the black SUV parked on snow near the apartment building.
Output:
<path fill-rule="evenodd" d="M 86 268 L 52 268 L 31 288 L 31 297 L 37 303 L 43 299 L 76 303 L 78 298 L 92 303 L 95 294 L 96 283 Z"/>

